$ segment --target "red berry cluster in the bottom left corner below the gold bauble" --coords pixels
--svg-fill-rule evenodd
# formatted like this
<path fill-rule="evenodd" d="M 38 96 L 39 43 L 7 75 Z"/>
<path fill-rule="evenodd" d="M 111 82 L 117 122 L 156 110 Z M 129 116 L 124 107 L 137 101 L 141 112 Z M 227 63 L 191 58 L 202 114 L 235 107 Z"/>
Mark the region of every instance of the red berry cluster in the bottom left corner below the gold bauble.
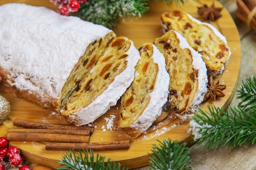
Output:
<path fill-rule="evenodd" d="M 8 162 L 11 166 L 19 168 L 19 170 L 30 170 L 29 166 L 22 165 L 25 161 L 20 155 L 20 150 L 16 146 L 7 148 L 8 141 L 5 137 L 0 137 L 0 170 L 5 170 L 4 162 Z"/>

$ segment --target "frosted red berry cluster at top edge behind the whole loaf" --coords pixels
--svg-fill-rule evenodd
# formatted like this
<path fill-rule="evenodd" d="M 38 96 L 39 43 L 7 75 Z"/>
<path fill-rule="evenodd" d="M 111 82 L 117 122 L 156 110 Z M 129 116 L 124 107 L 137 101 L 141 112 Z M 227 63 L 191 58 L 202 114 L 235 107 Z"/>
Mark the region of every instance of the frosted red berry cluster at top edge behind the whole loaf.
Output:
<path fill-rule="evenodd" d="M 80 3 L 87 0 L 50 0 L 52 3 L 58 5 L 57 12 L 63 16 L 67 16 L 70 12 L 78 11 Z"/>

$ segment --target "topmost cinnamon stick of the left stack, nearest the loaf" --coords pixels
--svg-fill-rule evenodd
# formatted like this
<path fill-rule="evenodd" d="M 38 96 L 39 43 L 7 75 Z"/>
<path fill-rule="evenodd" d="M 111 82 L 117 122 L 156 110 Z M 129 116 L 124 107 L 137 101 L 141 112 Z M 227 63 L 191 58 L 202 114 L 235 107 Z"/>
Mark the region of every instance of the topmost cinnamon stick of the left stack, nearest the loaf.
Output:
<path fill-rule="evenodd" d="M 46 123 L 38 123 L 34 121 L 27 121 L 22 119 L 13 119 L 13 125 L 19 126 L 23 128 L 31 128 L 31 129 L 70 129 L 70 130 L 90 130 L 90 134 L 93 133 L 92 127 L 88 126 L 73 126 L 73 125 L 59 125 L 59 124 L 46 124 Z"/>

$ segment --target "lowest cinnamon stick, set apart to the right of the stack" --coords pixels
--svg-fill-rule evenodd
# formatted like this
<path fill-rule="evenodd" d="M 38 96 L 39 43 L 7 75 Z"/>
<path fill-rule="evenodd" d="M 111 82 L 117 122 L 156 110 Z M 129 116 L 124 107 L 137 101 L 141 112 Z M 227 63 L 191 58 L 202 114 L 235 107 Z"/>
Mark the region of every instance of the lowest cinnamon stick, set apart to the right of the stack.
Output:
<path fill-rule="evenodd" d="M 79 151 L 88 149 L 93 151 L 123 150 L 130 148 L 130 140 L 95 142 L 95 143 L 45 143 L 46 150 L 71 150 Z"/>

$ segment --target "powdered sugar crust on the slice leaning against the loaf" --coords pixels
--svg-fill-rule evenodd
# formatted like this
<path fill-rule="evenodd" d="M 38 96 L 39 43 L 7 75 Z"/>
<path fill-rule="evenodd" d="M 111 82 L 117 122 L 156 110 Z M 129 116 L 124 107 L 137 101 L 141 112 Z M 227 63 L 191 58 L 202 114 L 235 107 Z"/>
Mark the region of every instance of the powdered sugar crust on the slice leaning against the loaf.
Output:
<path fill-rule="evenodd" d="M 74 112 L 72 115 L 66 115 L 68 117 L 67 121 L 76 126 L 92 123 L 105 114 L 111 106 L 117 104 L 119 98 L 132 83 L 135 65 L 137 65 L 140 58 L 138 49 L 136 49 L 132 41 L 130 42 L 130 49 L 126 52 L 128 54 L 128 62 L 124 71 L 118 74 L 114 81 L 108 85 L 107 89 L 87 107 L 82 107 L 79 112 Z"/>

